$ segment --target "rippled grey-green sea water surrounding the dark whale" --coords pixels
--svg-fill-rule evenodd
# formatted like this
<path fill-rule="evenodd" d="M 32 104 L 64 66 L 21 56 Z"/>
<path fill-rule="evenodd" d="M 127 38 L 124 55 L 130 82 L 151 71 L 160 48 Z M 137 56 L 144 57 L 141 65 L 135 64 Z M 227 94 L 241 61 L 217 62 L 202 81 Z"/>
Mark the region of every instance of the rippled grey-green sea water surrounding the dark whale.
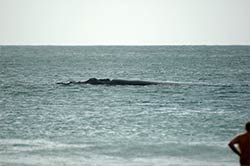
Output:
<path fill-rule="evenodd" d="M 233 166 L 248 120 L 250 46 L 0 46 L 3 166 Z"/>

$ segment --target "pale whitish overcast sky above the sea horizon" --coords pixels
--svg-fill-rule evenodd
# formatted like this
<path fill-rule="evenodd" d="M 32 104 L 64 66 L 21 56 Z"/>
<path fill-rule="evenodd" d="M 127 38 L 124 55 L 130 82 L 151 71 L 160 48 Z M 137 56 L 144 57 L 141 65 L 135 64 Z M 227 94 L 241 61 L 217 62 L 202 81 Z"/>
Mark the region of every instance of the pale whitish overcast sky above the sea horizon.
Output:
<path fill-rule="evenodd" d="M 0 45 L 250 45 L 250 0 L 0 0 Z"/>

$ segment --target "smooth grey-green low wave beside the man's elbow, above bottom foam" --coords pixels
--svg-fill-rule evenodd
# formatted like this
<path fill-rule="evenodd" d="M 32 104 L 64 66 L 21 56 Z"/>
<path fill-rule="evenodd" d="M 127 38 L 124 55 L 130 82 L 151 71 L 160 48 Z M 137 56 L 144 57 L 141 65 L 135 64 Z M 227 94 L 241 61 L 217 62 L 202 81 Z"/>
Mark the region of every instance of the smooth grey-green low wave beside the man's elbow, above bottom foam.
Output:
<path fill-rule="evenodd" d="M 147 157 L 185 157 L 185 158 L 219 158 L 218 154 L 226 152 L 226 143 L 207 144 L 207 143 L 177 143 L 168 142 L 163 144 L 119 144 L 102 145 L 88 148 L 93 153 L 122 158 L 147 158 Z"/>

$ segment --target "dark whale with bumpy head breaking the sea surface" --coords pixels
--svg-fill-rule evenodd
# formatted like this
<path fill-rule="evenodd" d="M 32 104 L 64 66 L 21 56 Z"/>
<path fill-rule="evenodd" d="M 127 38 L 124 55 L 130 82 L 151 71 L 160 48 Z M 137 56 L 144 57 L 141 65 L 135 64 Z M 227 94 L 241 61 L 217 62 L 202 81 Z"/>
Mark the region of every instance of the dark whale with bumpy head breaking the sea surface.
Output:
<path fill-rule="evenodd" d="M 90 78 L 87 81 L 69 81 L 69 82 L 58 82 L 61 85 L 71 85 L 71 84 L 91 84 L 91 85 L 156 85 L 160 84 L 158 82 L 151 81 L 140 81 L 140 80 L 123 80 L 123 79 L 97 79 Z"/>

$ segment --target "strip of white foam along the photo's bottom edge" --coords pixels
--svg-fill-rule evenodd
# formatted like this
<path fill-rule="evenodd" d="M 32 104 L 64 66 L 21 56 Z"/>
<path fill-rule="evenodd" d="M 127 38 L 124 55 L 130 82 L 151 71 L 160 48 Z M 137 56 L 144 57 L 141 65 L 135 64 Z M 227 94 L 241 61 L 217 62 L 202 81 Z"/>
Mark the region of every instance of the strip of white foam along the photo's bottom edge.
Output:
<path fill-rule="evenodd" d="M 37 165 L 37 166 L 233 166 L 237 163 L 225 161 L 194 160 L 181 157 L 157 157 L 157 158 L 119 158 L 104 155 L 83 156 L 0 156 L 0 163 L 13 165 Z"/>

